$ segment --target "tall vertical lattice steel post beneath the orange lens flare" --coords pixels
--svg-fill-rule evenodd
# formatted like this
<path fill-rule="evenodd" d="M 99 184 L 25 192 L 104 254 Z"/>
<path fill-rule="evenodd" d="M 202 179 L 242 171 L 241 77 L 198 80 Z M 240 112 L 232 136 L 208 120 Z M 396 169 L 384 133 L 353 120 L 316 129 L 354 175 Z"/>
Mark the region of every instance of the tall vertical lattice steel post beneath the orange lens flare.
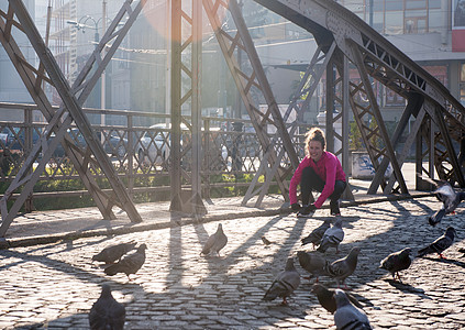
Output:
<path fill-rule="evenodd" d="M 182 8 L 181 0 L 171 1 L 171 211 L 182 211 L 201 216 L 207 212 L 201 195 L 201 43 L 202 4 L 192 0 L 190 10 Z M 181 29 L 189 26 L 190 29 Z M 182 31 L 189 31 L 188 35 Z M 182 62 L 190 54 L 190 64 Z M 190 80 L 190 87 L 182 89 L 181 77 Z M 191 117 L 182 117 L 182 105 L 190 103 Z M 181 123 L 191 132 L 191 142 L 182 145 Z M 192 154 L 191 175 L 181 168 L 181 160 L 187 152 Z M 191 184 L 191 191 L 181 189 L 182 182 Z"/>

